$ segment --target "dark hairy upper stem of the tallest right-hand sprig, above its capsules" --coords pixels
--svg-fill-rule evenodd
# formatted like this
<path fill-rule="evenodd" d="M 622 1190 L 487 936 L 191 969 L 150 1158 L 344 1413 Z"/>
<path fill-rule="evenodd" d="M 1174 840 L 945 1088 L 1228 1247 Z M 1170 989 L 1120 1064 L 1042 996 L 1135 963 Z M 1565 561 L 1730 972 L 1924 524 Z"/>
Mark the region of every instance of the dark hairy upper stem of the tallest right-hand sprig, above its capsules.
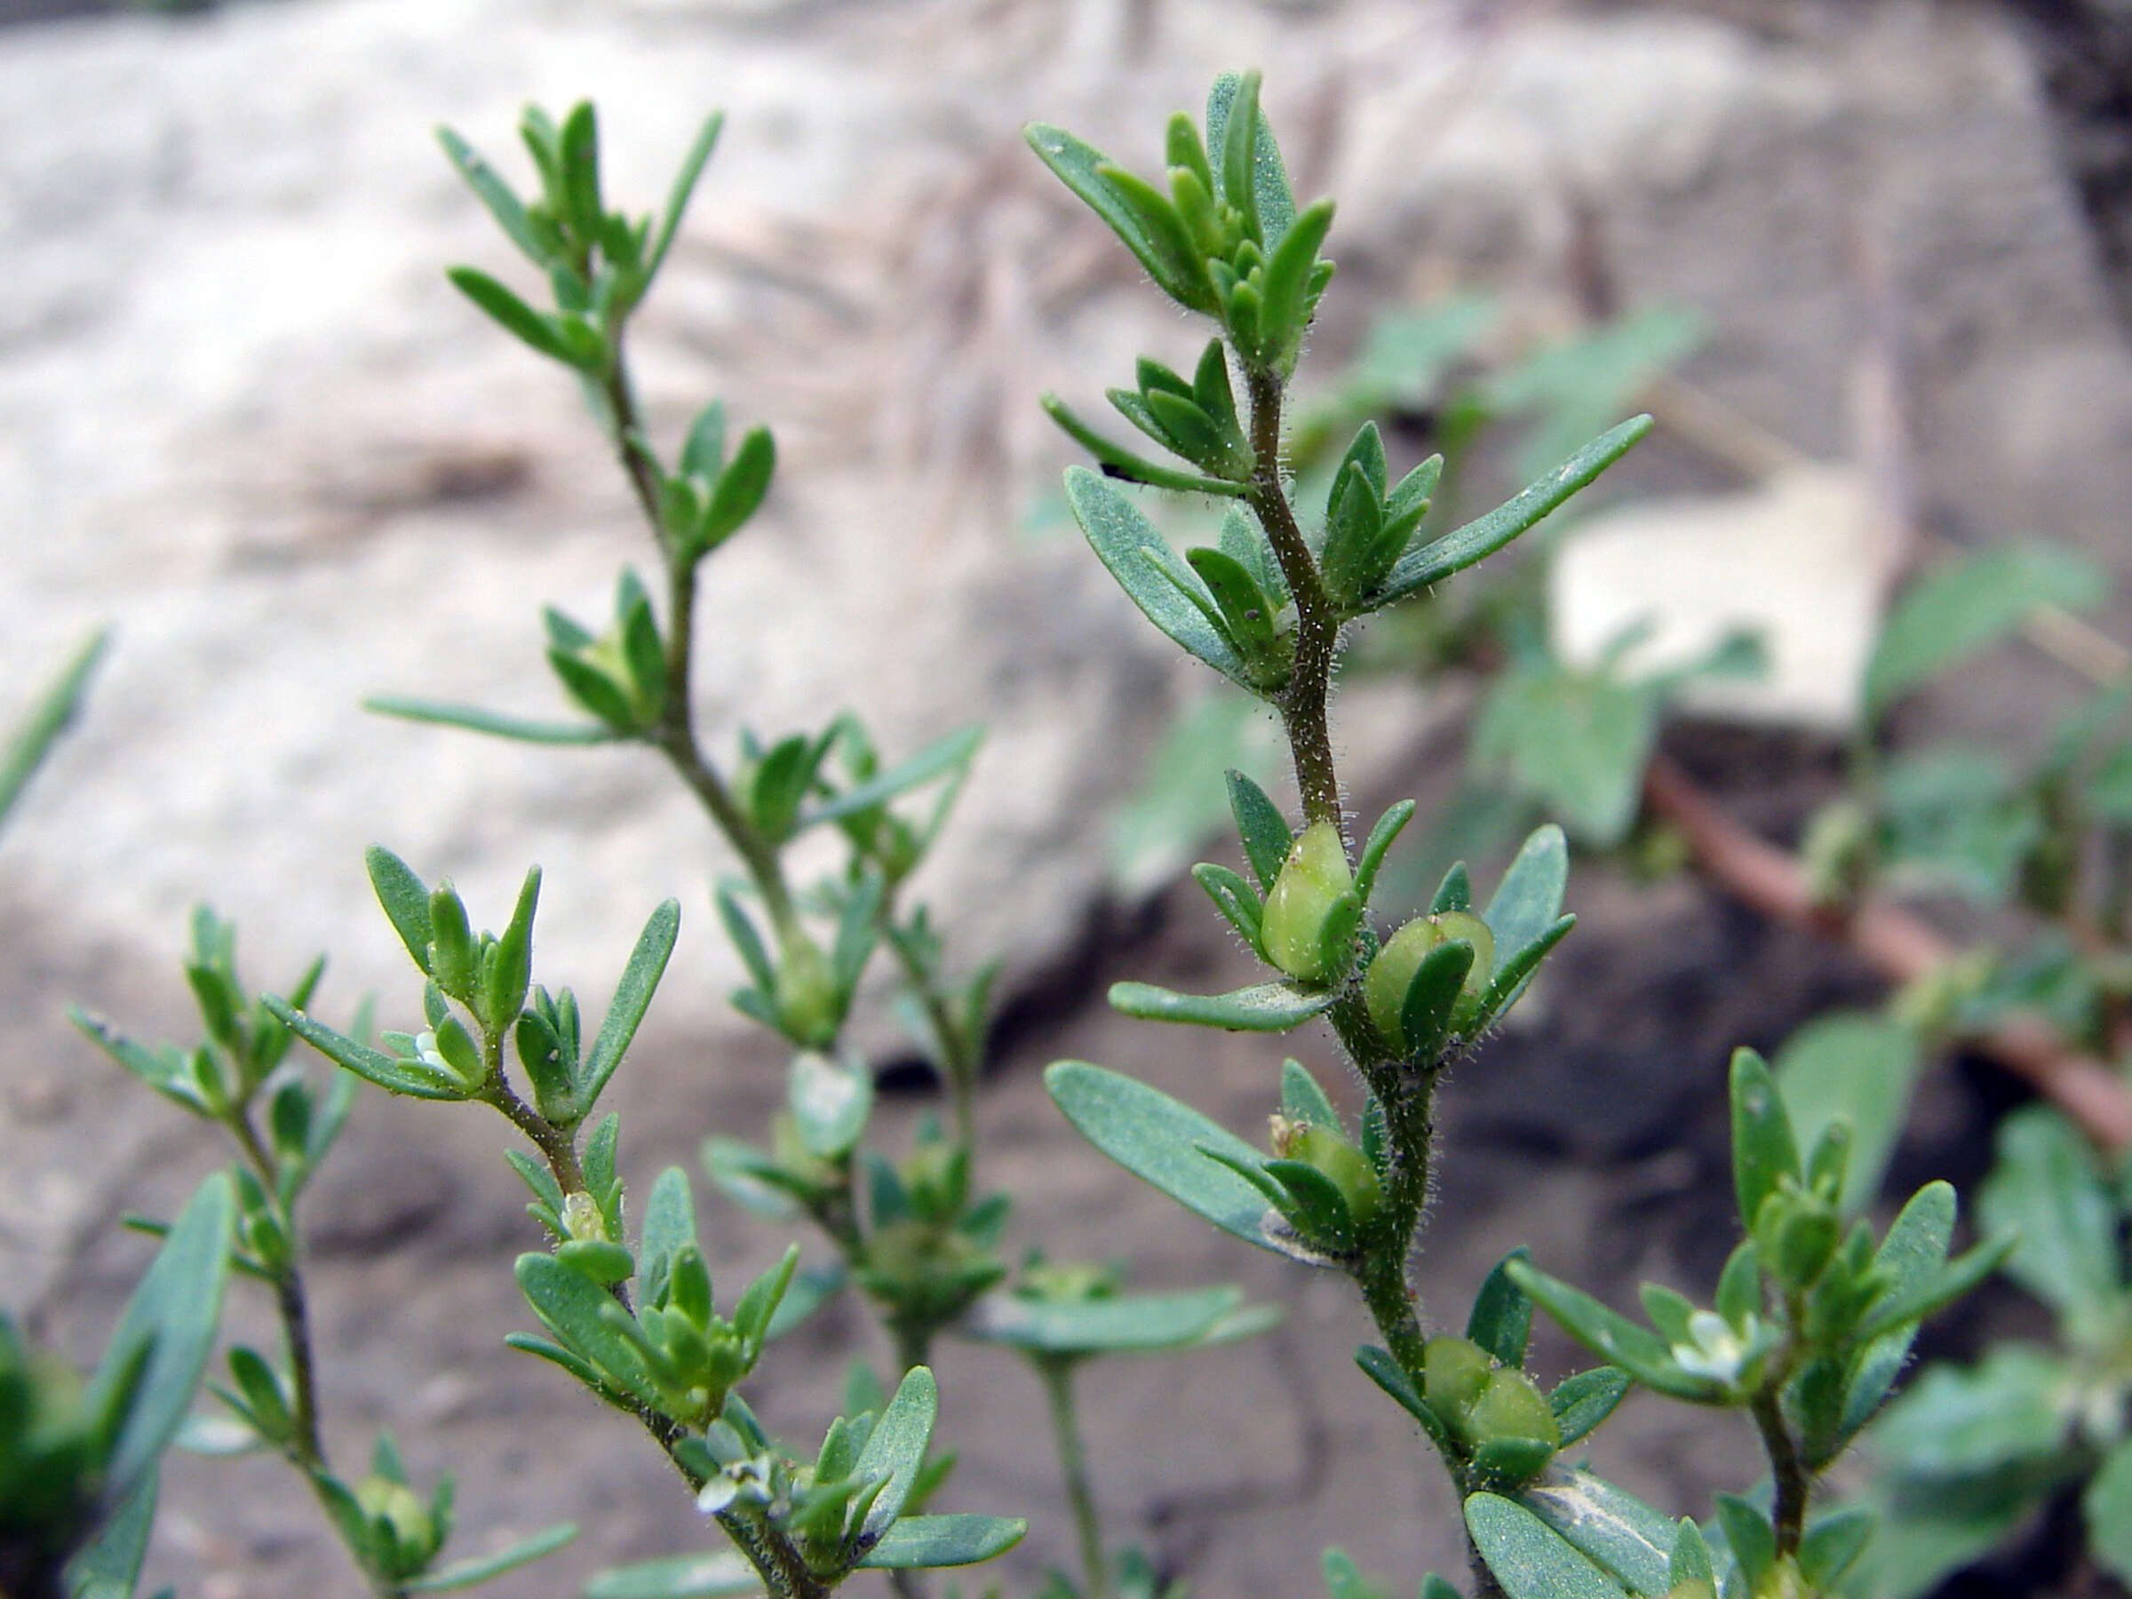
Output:
<path fill-rule="evenodd" d="M 1332 736 L 1326 723 L 1326 699 L 1332 687 L 1332 659 L 1339 646 L 1339 608 L 1318 576 L 1311 548 L 1296 527 L 1281 482 L 1281 379 L 1264 367 L 1245 367 L 1245 392 L 1251 405 L 1251 488 L 1245 495 L 1258 524 L 1281 563 L 1288 593 L 1296 601 L 1296 659 L 1275 699 L 1288 744 L 1296 757 L 1296 787 L 1303 793 L 1305 821 L 1341 823 L 1339 774 L 1332 768 Z"/>

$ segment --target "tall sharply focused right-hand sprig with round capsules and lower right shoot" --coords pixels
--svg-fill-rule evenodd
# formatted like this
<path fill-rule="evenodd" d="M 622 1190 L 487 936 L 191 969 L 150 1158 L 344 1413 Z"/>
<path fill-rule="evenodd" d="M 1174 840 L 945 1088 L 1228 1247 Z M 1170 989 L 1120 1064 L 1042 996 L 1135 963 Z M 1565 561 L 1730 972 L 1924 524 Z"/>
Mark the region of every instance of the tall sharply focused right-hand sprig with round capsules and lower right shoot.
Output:
<path fill-rule="evenodd" d="M 1537 1271 L 1522 1251 L 1486 1281 L 1463 1337 L 1426 1337 L 1414 1254 L 1428 1198 L 1433 1098 L 1569 932 L 1561 915 L 1567 849 L 1558 829 L 1527 840 L 1475 912 L 1454 868 L 1426 915 L 1390 936 L 1369 917 L 1386 851 L 1414 814 L 1394 806 L 1350 846 L 1326 704 L 1343 629 L 1486 559 L 1620 458 L 1648 429 L 1627 422 L 1495 512 L 1420 537 L 1441 458 L 1392 480 L 1375 426 L 1347 448 L 1322 507 L 1298 507 L 1281 467 L 1281 405 L 1318 296 L 1332 207 L 1298 211 L 1258 109 L 1258 79 L 1222 79 L 1205 134 L 1168 124 L 1162 183 L 1072 134 L 1036 126 L 1030 143 L 1188 311 L 1215 322 L 1190 379 L 1143 358 L 1111 403 L 1177 469 L 1113 443 L 1064 403 L 1053 418 L 1102 473 L 1072 469 L 1066 497 L 1096 554 L 1158 629 L 1258 695 L 1281 721 L 1301 795 L 1292 821 L 1230 776 L 1251 876 L 1194 876 L 1271 970 L 1220 996 L 1119 983 L 1111 1002 L 1153 1021 L 1290 1032 L 1322 1017 L 1360 1072 L 1350 1130 L 1301 1062 L 1281 1068 L 1271 1153 L 1177 1100 L 1085 1062 L 1057 1062 L 1060 1109 L 1104 1153 L 1188 1209 L 1266 1249 L 1354 1279 L 1384 1347 L 1358 1362 L 1420 1424 L 1463 1501 L 1480 1593 L 1804 1595 L 1825 1593 L 1859 1554 L 1870 1518 L 1810 1518 L 1814 1484 L 1887 1399 L 1917 1322 L 1966 1292 L 2006 1245 L 1949 1262 L 1953 1192 L 1921 1190 L 1876 1239 L 1844 1228 L 1848 1128 L 1802 1151 L 1767 1068 L 1742 1051 L 1731 1072 L 1733 1166 L 1746 1239 L 1703 1309 L 1646 1288 L 1640 1324 Z M 1237 392 L 1241 388 L 1241 405 Z M 1177 556 L 1119 486 L 1232 501 L 1215 546 Z M 1533 1305 L 1608 1364 L 1541 1392 L 1524 1371 Z M 1631 1386 L 1746 1411 L 1770 1486 L 1721 1497 L 1703 1533 L 1676 1529 L 1620 1488 L 1556 1456 Z M 1335 1586 L 1347 1569 L 1328 1563 Z M 1352 1586 L 1352 1584 L 1350 1584 Z M 1454 1593 L 1441 1578 L 1424 1595 Z"/>

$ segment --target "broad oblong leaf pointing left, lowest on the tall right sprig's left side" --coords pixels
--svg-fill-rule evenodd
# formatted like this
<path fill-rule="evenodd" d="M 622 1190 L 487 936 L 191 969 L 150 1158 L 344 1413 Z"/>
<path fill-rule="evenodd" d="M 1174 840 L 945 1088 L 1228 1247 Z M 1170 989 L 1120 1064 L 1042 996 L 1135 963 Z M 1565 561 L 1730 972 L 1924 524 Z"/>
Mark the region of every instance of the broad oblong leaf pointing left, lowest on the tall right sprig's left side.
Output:
<path fill-rule="evenodd" d="M 1053 1062 L 1045 1087 L 1081 1136 L 1134 1177 L 1224 1232 L 1273 1247 L 1262 1230 L 1264 1196 L 1200 1153 L 1205 1147 L 1251 1164 L 1264 1160 L 1243 1138 L 1160 1089 L 1087 1062 Z"/>

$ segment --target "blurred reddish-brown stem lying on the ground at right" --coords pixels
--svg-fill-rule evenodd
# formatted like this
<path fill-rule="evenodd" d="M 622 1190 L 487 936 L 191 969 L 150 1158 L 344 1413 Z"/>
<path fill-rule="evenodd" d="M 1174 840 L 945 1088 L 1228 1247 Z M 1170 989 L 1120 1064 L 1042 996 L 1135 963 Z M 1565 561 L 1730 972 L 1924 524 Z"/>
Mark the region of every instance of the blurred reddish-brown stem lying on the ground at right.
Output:
<path fill-rule="evenodd" d="M 1650 814 L 1680 829 L 1695 868 L 1772 921 L 1834 938 L 1891 983 L 1910 983 L 1961 951 L 1902 906 L 1866 900 L 1848 910 L 1814 904 L 1799 863 L 1735 821 L 1686 772 L 1659 757 L 1644 774 Z M 2072 1049 L 2040 1017 L 2015 1015 L 1968 1040 L 2070 1115 L 2102 1149 L 2132 1149 L 2132 1085 Z"/>

